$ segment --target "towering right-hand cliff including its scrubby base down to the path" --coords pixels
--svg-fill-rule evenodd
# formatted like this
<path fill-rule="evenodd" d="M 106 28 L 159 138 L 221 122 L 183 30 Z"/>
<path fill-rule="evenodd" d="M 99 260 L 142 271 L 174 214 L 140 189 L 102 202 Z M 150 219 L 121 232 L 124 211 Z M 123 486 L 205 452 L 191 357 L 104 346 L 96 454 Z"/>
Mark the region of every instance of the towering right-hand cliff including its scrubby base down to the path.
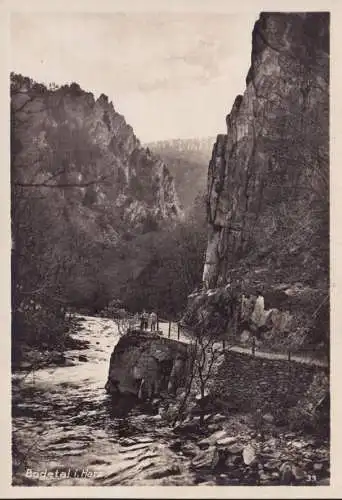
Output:
<path fill-rule="evenodd" d="M 296 313 L 298 321 L 287 323 L 287 332 L 295 335 L 300 326 L 304 337 L 325 341 L 329 329 L 328 13 L 260 15 L 253 30 L 246 89 L 236 97 L 226 123 L 227 133 L 217 137 L 208 171 L 204 286 L 219 290 L 226 305 L 235 289 L 240 299 L 241 292 L 254 296 L 254 303 L 259 296 L 263 311 L 290 309 L 291 317 L 289 302 L 295 304 L 299 297 L 301 318 Z M 213 290 L 211 296 L 213 301 Z M 194 306 L 192 298 L 197 312 L 208 304 L 203 294 L 196 301 L 202 301 L 202 306 Z M 241 305 L 241 300 L 237 303 Z M 218 307 L 211 309 L 212 314 L 228 314 L 225 306 L 221 313 Z M 316 321 L 321 314 L 324 319 L 315 326 L 313 318 Z M 265 323 L 263 313 L 258 326 Z"/>

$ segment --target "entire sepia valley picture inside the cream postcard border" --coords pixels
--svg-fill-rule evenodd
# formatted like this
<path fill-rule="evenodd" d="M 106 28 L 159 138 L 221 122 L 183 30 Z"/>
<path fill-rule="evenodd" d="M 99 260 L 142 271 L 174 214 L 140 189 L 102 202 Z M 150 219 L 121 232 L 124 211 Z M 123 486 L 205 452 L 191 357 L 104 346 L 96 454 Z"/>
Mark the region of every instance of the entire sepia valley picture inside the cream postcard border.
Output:
<path fill-rule="evenodd" d="M 162 4 L 10 14 L 11 483 L 309 497 L 332 15 Z"/>

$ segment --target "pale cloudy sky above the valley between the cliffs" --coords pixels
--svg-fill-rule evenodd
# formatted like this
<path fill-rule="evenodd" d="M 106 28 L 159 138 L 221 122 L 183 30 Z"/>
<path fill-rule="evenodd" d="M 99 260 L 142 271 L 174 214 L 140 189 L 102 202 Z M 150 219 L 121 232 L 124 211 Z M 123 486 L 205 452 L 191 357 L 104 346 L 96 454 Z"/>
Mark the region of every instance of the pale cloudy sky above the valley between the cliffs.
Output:
<path fill-rule="evenodd" d="M 13 14 L 11 67 L 107 94 L 142 142 L 213 136 L 245 89 L 258 16 Z"/>

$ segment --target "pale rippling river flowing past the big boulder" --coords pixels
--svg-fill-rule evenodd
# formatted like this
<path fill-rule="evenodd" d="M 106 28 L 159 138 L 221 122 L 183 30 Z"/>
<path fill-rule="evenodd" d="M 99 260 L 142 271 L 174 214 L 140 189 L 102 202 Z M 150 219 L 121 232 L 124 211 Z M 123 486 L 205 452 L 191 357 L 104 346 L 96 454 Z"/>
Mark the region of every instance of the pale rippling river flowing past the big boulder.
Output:
<path fill-rule="evenodd" d="M 113 405 L 104 390 L 118 341 L 114 323 L 84 317 L 78 337 L 90 345 L 66 353 L 73 366 L 14 375 L 13 433 L 21 460 L 13 484 L 193 484 L 189 458 L 170 449 L 174 435 L 160 416 L 127 399 Z"/>

